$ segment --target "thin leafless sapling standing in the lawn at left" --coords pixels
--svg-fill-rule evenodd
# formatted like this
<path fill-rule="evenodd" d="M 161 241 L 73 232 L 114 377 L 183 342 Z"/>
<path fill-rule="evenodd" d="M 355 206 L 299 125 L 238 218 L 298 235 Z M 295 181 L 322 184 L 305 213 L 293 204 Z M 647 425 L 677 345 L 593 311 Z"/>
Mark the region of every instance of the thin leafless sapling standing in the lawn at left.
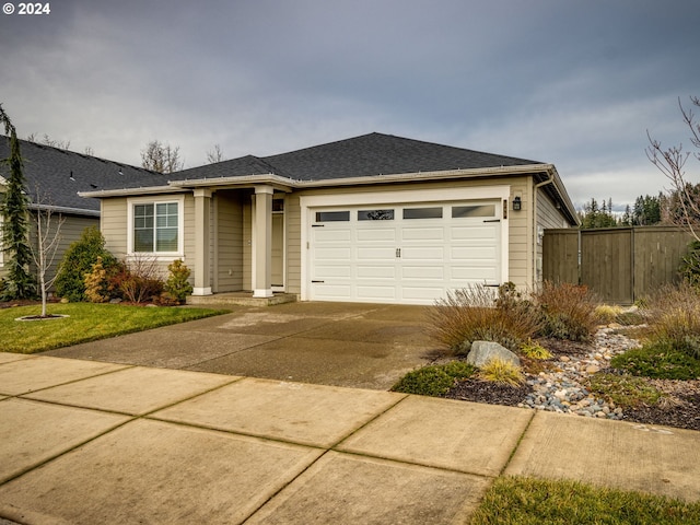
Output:
<path fill-rule="evenodd" d="M 36 217 L 34 219 L 36 225 L 36 244 L 31 245 L 32 259 L 36 265 L 37 277 L 39 281 L 39 292 L 42 294 L 42 317 L 47 317 L 46 303 L 48 291 L 56 281 L 58 272 L 48 278 L 49 268 L 54 266 L 56 255 L 61 242 L 61 226 L 66 219 L 59 213 L 58 219 L 54 217 L 54 208 L 50 206 L 42 206 L 38 188 Z"/>

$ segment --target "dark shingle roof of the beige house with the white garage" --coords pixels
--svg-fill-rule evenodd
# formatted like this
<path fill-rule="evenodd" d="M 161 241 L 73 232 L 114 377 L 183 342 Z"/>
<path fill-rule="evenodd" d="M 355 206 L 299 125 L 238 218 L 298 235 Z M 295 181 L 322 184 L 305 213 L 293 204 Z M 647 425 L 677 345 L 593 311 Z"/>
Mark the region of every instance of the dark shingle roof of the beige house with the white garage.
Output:
<path fill-rule="evenodd" d="M 242 156 L 172 173 L 170 178 L 184 180 L 271 173 L 295 180 L 332 180 L 528 164 L 541 163 L 392 135 L 369 133 L 277 155 Z"/>

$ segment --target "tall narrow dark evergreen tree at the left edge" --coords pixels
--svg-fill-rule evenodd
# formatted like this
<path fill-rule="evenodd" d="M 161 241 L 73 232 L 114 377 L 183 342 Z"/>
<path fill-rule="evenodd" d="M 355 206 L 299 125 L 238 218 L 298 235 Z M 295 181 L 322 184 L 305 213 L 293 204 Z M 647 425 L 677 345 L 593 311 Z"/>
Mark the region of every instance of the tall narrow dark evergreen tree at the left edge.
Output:
<path fill-rule="evenodd" d="M 24 191 L 24 165 L 20 152 L 18 133 L 10 117 L 0 104 L 0 121 L 10 137 L 10 158 L 2 161 L 10 167 L 7 188 L 0 214 L 2 223 L 2 249 L 9 254 L 8 285 L 4 299 L 33 299 L 36 296 L 36 280 L 30 273 L 32 249 L 28 244 L 27 208 L 30 199 Z"/>

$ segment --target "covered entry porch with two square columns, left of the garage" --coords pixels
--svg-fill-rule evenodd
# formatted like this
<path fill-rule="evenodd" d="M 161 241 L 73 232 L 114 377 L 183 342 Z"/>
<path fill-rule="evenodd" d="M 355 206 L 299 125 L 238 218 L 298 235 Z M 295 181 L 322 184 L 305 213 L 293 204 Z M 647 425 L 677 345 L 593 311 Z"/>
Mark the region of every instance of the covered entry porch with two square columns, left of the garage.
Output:
<path fill-rule="evenodd" d="M 191 304 L 279 304 L 288 293 L 285 196 L 275 180 L 191 180 L 194 221 L 186 238 L 194 253 Z M 189 228 L 188 228 L 189 226 Z"/>

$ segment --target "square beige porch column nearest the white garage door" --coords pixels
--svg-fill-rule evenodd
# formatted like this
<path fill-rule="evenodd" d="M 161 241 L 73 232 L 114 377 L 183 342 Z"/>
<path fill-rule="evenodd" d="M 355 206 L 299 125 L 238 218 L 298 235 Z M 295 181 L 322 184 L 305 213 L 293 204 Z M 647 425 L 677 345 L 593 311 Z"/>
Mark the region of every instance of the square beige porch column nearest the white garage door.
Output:
<path fill-rule="evenodd" d="M 272 192 L 271 186 L 255 187 L 253 237 L 253 296 L 272 296 Z"/>

